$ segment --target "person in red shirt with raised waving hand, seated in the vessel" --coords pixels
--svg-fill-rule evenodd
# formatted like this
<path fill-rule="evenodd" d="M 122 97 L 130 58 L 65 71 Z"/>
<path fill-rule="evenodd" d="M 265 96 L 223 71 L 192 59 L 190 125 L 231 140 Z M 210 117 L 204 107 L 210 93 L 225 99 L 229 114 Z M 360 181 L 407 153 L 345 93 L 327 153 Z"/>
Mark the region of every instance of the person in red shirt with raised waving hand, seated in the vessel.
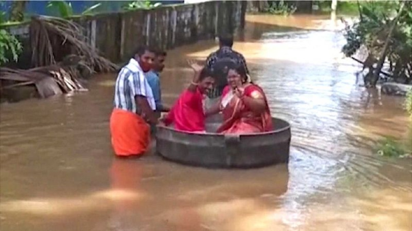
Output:
<path fill-rule="evenodd" d="M 203 95 L 212 89 L 214 79 L 208 69 L 197 64 L 192 64 L 192 68 L 195 70 L 193 81 L 179 96 L 169 114 L 164 118 L 164 124 L 173 124 L 176 130 L 204 132 Z"/>

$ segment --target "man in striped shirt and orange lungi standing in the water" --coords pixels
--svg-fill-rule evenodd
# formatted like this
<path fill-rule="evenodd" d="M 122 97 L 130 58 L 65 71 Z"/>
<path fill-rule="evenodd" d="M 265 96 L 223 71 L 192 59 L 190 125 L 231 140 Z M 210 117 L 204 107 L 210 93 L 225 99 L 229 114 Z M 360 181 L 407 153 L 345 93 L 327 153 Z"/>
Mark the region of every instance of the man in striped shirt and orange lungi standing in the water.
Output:
<path fill-rule="evenodd" d="M 155 53 L 136 50 L 120 70 L 115 85 L 115 108 L 110 116 L 112 146 L 117 156 L 141 156 L 150 144 L 150 124 L 157 124 L 156 104 L 145 73 L 152 69 Z"/>

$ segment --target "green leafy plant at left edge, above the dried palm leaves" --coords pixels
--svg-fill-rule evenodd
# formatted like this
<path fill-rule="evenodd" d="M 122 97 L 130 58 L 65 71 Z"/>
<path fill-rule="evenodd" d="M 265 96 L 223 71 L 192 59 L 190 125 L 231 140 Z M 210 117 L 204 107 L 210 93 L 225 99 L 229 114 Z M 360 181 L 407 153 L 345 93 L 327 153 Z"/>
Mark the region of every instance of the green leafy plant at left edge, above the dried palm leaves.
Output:
<path fill-rule="evenodd" d="M 0 65 L 12 59 L 17 62 L 23 47 L 20 41 L 6 30 L 0 30 Z"/>

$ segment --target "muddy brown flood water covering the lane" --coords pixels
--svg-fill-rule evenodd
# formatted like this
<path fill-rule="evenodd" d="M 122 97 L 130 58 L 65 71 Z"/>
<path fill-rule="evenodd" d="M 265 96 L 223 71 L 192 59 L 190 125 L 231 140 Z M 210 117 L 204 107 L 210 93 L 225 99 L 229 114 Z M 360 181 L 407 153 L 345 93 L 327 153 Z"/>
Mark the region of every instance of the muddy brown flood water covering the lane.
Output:
<path fill-rule="evenodd" d="M 248 16 L 234 48 L 290 121 L 289 165 L 209 170 L 113 157 L 115 74 L 89 92 L 1 105 L 2 231 L 412 230 L 411 159 L 372 152 L 379 135 L 408 139 L 403 98 L 356 85 L 339 53 L 342 27 L 323 16 Z M 186 58 L 214 41 L 171 50 L 164 101 L 189 83 Z"/>

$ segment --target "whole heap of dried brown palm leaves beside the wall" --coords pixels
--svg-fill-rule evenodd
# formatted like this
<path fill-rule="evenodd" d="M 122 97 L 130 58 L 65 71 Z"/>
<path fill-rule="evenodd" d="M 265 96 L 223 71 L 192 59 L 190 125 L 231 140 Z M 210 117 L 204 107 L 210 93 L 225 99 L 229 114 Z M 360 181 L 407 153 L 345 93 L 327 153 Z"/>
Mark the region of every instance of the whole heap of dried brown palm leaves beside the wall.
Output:
<path fill-rule="evenodd" d="M 28 70 L 1 68 L 0 91 L 35 85 L 40 97 L 86 90 L 78 78 L 118 67 L 101 57 L 84 36 L 83 28 L 72 21 L 48 16 L 33 17 L 29 27 L 31 64 Z"/>

